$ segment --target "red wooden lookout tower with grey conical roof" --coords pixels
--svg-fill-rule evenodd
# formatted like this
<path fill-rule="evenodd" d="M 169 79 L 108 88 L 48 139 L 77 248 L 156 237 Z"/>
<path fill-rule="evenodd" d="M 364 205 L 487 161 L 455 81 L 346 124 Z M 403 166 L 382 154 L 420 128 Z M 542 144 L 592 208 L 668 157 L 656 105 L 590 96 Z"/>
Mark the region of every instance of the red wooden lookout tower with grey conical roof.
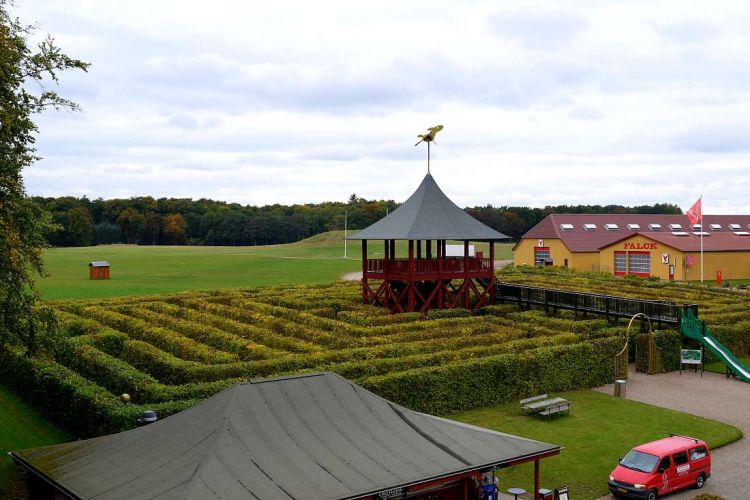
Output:
<path fill-rule="evenodd" d="M 417 190 L 391 214 L 349 240 L 362 240 L 362 301 L 393 313 L 427 312 L 494 303 L 495 242 L 508 236 L 453 203 L 428 172 Z M 367 257 L 369 240 L 383 241 L 383 258 Z M 396 241 L 407 255 L 396 255 Z M 463 241 L 463 256 L 448 257 L 446 241 Z M 469 242 L 488 242 L 489 256 L 469 254 Z"/>

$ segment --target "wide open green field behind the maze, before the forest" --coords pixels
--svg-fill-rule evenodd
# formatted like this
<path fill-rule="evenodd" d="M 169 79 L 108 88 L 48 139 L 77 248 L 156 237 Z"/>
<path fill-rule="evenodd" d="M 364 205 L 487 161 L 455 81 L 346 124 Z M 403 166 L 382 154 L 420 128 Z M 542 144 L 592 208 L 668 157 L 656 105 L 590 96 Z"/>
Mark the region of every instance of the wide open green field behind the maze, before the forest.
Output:
<path fill-rule="evenodd" d="M 46 300 L 150 295 L 211 288 L 291 283 L 329 283 L 362 268 L 362 247 L 343 231 L 323 233 L 287 245 L 256 247 L 103 245 L 53 248 L 44 254 L 48 278 L 37 279 Z M 379 243 L 379 244 L 378 244 Z M 486 244 L 477 250 L 488 254 Z M 496 258 L 512 259 L 510 244 L 496 245 Z M 382 257 L 383 245 L 370 242 L 369 255 Z M 399 242 L 397 256 L 406 254 Z M 89 280 L 88 263 L 106 260 L 111 279 Z"/>

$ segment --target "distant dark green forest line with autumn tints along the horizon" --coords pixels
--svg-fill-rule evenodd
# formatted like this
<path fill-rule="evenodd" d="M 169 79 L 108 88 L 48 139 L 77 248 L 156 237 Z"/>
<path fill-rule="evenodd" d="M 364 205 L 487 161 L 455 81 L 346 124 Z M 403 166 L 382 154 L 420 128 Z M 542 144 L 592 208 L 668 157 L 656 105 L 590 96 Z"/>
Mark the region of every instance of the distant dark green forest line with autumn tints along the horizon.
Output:
<path fill-rule="evenodd" d="M 111 243 L 139 245 L 272 245 L 291 243 L 324 231 L 363 229 L 398 207 L 393 200 L 366 200 L 352 194 L 347 202 L 251 206 L 209 199 L 159 198 L 90 200 L 63 196 L 34 197 L 56 226 L 53 246 Z M 488 226 L 519 238 L 552 213 L 679 214 L 678 206 L 657 203 L 558 205 L 545 208 L 486 205 L 465 209 Z"/>

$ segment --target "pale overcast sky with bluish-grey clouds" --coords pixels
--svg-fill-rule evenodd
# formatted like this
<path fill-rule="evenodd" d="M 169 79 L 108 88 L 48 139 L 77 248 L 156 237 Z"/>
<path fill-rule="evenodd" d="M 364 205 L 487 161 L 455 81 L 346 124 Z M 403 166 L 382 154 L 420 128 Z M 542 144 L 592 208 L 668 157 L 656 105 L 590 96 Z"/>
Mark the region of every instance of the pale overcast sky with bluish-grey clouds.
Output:
<path fill-rule="evenodd" d="M 668 202 L 750 213 L 746 1 L 16 0 L 82 113 L 32 195 L 243 204 Z"/>

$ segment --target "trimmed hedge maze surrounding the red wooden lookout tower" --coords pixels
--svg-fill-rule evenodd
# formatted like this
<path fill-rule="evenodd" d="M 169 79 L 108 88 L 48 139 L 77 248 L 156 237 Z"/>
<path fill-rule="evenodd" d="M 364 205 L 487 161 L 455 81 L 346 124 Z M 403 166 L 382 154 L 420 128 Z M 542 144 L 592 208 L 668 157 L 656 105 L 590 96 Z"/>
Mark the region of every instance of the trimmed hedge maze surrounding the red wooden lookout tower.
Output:
<path fill-rule="evenodd" d="M 697 302 L 732 348 L 750 324 L 739 293 L 546 269 L 500 279 Z M 68 338 L 48 357 L 0 349 L 0 375 L 79 436 L 130 428 L 147 408 L 171 414 L 237 381 L 320 370 L 446 414 L 611 382 L 625 332 L 622 322 L 515 304 L 425 316 L 360 300 L 357 283 L 339 282 L 53 303 Z"/>

